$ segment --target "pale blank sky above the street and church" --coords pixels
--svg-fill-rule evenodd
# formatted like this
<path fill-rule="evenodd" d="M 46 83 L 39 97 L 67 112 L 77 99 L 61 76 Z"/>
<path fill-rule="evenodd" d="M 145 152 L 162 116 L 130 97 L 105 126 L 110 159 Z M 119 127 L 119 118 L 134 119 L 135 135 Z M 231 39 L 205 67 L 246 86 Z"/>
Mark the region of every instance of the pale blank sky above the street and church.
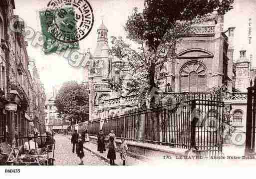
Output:
<path fill-rule="evenodd" d="M 45 9 L 49 0 L 14 0 L 14 14 L 19 15 L 25 26 L 32 27 L 35 31 L 41 32 L 39 21 L 39 10 Z M 142 9 L 143 0 L 88 0 L 94 14 L 94 25 L 91 32 L 79 41 L 80 52 L 86 52 L 87 48 L 94 52 L 96 47 L 96 30 L 103 22 L 108 28 L 108 39 L 110 36 L 123 36 L 125 31 L 123 26 L 128 15 L 131 14 L 133 7 Z M 250 49 L 253 53 L 253 66 L 256 67 L 256 0 L 235 0 L 235 8 L 224 16 L 224 28 L 236 27 L 235 30 L 235 58 L 239 57 L 239 50 L 243 47 Z M 102 17 L 103 16 L 103 17 Z M 252 45 L 248 45 L 248 19 L 252 18 Z M 110 40 L 109 40 L 110 43 Z M 67 60 L 56 54 L 45 55 L 40 48 L 31 46 L 28 41 L 28 56 L 36 61 L 40 80 L 44 84 L 46 93 L 52 92 L 52 86 L 60 86 L 68 80 L 83 81 L 82 68 L 72 67 Z M 250 52 L 250 53 L 251 53 Z"/>

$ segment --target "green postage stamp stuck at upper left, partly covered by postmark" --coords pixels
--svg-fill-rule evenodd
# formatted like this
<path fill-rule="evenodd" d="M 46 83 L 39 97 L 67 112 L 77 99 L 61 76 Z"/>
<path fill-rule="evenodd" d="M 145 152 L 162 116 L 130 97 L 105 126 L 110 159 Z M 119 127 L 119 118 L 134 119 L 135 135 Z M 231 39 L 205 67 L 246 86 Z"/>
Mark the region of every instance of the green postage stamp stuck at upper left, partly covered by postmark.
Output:
<path fill-rule="evenodd" d="M 45 35 L 44 53 L 79 49 L 73 7 L 39 11 L 42 34 Z"/>

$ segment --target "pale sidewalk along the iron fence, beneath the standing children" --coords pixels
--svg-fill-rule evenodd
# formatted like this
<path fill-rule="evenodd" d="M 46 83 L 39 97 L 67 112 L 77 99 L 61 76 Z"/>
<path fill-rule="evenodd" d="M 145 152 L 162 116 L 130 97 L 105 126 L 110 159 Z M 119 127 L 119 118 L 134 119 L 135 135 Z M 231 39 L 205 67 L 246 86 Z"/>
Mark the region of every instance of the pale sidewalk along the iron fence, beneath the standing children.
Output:
<path fill-rule="evenodd" d="M 96 156 L 98 156 L 99 158 L 101 158 L 102 160 L 105 160 L 106 162 L 109 163 L 109 159 L 107 159 L 107 153 L 108 153 L 108 149 L 106 148 L 106 151 L 104 153 L 100 153 L 99 151 L 97 151 L 97 145 L 93 144 L 91 142 L 86 142 L 84 143 L 84 149 L 92 152 L 93 154 L 95 154 Z M 118 166 L 122 166 L 123 165 L 123 161 L 121 160 L 120 157 L 120 153 L 116 152 L 116 160 L 115 160 L 115 164 Z M 132 157 L 127 157 L 127 161 L 126 161 L 126 165 L 127 166 L 134 166 L 134 165 L 141 165 L 141 164 L 145 164 L 144 162 L 134 159 Z"/>

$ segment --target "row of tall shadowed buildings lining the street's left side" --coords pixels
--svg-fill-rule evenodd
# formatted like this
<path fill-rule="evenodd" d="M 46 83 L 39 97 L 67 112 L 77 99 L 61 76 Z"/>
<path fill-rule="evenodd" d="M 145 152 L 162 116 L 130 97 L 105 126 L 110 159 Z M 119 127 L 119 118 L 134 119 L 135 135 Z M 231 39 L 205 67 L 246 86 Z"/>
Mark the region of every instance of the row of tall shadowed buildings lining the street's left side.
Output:
<path fill-rule="evenodd" d="M 40 112 L 44 110 L 43 85 L 28 69 L 28 44 L 21 35 L 24 22 L 13 14 L 14 8 L 14 0 L 0 1 L 0 142 L 9 143 L 15 136 L 45 130 Z"/>

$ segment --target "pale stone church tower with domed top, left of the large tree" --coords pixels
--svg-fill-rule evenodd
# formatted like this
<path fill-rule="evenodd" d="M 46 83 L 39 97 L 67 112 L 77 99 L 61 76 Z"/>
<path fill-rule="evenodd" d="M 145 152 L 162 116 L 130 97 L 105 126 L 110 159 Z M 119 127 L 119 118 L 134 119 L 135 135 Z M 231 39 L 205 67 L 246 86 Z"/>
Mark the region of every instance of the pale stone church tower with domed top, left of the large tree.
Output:
<path fill-rule="evenodd" d="M 97 45 L 93 54 L 88 50 L 85 60 L 85 84 L 89 90 L 89 120 L 97 117 L 95 109 L 110 97 L 108 76 L 110 74 L 110 59 L 108 46 L 108 29 L 103 21 L 97 29 Z M 96 110 L 97 111 L 97 110 Z M 101 116 L 98 116 L 101 117 Z"/>

